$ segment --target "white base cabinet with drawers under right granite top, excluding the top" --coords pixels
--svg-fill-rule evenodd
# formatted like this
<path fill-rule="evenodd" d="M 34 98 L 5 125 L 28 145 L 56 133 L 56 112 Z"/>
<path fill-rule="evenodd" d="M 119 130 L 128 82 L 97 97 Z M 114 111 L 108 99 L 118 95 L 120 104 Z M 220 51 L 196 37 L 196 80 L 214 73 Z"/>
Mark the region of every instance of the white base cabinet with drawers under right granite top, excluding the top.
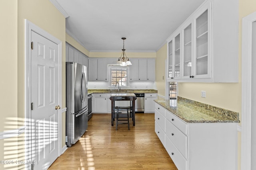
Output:
<path fill-rule="evenodd" d="M 155 132 L 178 170 L 237 169 L 237 123 L 186 123 L 156 103 Z"/>

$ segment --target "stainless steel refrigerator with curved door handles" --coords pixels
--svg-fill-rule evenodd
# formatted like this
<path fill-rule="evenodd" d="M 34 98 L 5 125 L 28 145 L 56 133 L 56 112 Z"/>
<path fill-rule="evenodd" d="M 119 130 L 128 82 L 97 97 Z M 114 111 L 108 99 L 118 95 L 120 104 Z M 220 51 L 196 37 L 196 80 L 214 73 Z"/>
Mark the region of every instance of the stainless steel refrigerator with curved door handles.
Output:
<path fill-rule="evenodd" d="M 66 145 L 71 147 L 88 127 L 86 66 L 66 62 Z"/>

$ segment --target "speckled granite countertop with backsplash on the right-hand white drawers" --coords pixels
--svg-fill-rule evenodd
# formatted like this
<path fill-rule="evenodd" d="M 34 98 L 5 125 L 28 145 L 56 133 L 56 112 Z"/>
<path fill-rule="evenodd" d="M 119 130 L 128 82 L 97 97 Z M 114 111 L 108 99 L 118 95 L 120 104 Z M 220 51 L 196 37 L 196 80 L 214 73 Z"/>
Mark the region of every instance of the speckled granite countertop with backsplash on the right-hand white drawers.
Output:
<path fill-rule="evenodd" d="M 186 98 L 154 100 L 187 123 L 238 123 L 239 113 Z"/>

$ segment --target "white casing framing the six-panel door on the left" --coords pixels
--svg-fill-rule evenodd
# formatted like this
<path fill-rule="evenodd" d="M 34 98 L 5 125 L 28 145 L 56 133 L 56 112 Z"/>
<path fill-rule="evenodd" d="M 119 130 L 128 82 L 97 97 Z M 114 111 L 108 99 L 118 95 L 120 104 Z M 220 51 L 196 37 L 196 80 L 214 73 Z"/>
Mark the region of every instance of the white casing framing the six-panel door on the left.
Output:
<path fill-rule="evenodd" d="M 59 65 L 59 70 L 58 70 L 58 82 L 59 82 L 59 91 L 58 91 L 58 98 L 59 101 L 58 103 L 62 107 L 62 41 L 51 35 L 50 33 L 44 31 L 42 28 L 38 27 L 34 23 L 25 20 L 26 22 L 26 29 L 25 29 L 25 89 L 24 89 L 24 94 L 25 94 L 25 125 L 26 125 L 26 137 L 25 137 L 25 152 L 26 152 L 26 157 L 25 160 L 31 160 L 32 159 L 32 145 L 30 143 L 31 141 L 31 85 L 30 85 L 30 77 L 31 77 L 31 31 L 34 31 L 43 37 L 49 39 L 50 41 L 56 43 L 58 45 L 58 65 Z M 65 109 L 60 110 L 58 113 L 58 118 L 59 118 L 59 128 L 58 128 L 58 140 L 59 140 L 59 148 L 58 148 L 58 156 L 62 154 L 62 112 L 65 111 Z M 28 169 L 30 168 L 31 165 L 28 165 Z"/>

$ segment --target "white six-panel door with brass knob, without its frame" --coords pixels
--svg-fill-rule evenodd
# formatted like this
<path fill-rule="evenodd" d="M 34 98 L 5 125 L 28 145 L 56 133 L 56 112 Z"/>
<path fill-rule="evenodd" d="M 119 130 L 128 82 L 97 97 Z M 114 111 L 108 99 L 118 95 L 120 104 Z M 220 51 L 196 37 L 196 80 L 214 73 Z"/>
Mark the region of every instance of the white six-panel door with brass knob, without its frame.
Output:
<path fill-rule="evenodd" d="M 59 149 L 58 45 L 34 31 L 31 41 L 32 157 L 34 169 L 45 170 Z"/>

